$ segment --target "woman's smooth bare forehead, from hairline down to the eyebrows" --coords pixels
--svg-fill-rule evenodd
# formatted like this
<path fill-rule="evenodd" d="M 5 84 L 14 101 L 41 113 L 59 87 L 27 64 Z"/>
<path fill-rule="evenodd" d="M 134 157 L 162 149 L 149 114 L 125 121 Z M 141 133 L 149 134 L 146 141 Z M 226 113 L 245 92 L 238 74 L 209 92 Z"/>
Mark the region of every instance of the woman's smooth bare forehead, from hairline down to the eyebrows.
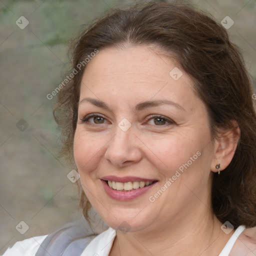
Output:
<path fill-rule="evenodd" d="M 171 99 L 181 105 L 189 105 L 197 98 L 192 79 L 179 63 L 152 46 L 99 50 L 83 73 L 80 99 L 87 95 L 98 98 L 111 95 L 115 100 L 122 97 L 131 101 Z"/>

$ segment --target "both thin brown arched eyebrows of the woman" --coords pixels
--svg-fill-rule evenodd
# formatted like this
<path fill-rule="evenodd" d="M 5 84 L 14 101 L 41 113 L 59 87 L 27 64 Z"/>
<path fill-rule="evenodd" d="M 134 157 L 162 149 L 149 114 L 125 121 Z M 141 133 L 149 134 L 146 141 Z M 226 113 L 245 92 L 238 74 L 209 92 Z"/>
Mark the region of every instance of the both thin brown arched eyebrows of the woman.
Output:
<path fill-rule="evenodd" d="M 85 101 L 90 102 L 93 105 L 98 106 L 100 108 L 111 111 L 111 109 L 108 107 L 108 105 L 105 102 L 103 102 L 99 99 L 83 98 L 79 101 L 79 104 L 81 104 Z M 181 105 L 179 105 L 179 104 L 177 104 L 177 103 L 175 103 L 171 100 L 166 100 L 166 99 L 148 100 L 148 101 L 140 102 L 140 103 L 136 104 L 135 110 L 136 111 L 141 111 L 141 110 L 143 110 L 144 108 L 147 108 L 147 107 L 159 106 L 159 105 L 163 105 L 163 104 L 169 104 L 169 105 L 175 106 L 175 107 L 185 111 L 185 109 Z"/>

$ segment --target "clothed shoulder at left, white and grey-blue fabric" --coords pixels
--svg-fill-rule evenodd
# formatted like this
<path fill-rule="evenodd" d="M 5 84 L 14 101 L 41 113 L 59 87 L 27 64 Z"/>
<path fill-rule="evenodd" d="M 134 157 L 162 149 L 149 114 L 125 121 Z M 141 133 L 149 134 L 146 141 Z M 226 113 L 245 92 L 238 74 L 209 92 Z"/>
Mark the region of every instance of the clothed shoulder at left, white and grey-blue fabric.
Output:
<path fill-rule="evenodd" d="M 98 231 L 106 227 L 97 223 Z M 80 255 L 98 233 L 83 217 L 67 222 L 48 235 L 34 236 L 16 242 L 2 256 L 36 256 L 36 255 Z M 63 254 L 65 252 L 65 254 Z"/>

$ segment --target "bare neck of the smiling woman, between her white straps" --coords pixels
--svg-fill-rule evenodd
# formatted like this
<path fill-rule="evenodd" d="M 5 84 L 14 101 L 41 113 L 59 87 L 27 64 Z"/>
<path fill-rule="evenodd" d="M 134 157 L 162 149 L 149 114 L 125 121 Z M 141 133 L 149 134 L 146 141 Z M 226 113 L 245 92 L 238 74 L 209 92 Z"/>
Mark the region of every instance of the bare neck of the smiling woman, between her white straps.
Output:
<path fill-rule="evenodd" d="M 200 206 L 204 210 L 189 212 L 186 217 L 179 215 L 162 225 L 155 223 L 150 230 L 117 230 L 109 255 L 218 256 L 234 230 L 225 234 L 221 222 L 205 205 Z"/>

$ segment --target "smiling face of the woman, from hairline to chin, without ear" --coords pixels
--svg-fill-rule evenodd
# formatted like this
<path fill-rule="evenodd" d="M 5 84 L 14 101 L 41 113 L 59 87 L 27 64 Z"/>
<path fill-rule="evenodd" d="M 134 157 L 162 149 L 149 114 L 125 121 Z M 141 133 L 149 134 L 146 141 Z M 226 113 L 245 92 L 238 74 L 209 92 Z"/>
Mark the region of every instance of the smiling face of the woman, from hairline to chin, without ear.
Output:
<path fill-rule="evenodd" d="M 99 50 L 82 77 L 74 158 L 86 196 L 115 229 L 180 224 L 210 207 L 205 105 L 178 63 L 152 49 Z"/>

